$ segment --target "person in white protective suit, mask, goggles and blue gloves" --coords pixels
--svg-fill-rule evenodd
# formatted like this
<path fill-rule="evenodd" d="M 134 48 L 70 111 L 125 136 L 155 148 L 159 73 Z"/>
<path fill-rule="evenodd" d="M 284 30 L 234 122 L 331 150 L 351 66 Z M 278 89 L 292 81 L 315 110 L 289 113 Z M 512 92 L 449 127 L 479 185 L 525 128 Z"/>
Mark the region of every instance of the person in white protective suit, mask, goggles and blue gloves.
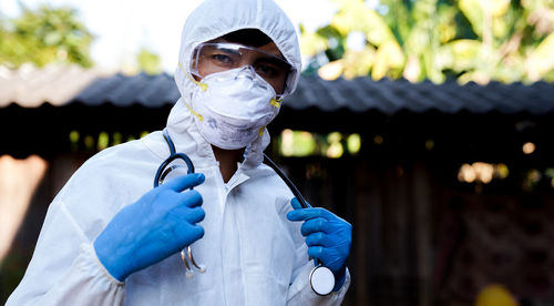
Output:
<path fill-rule="evenodd" d="M 183 28 L 165 129 L 196 173 L 153 187 L 162 131 L 86 161 L 7 305 L 339 305 L 350 224 L 299 207 L 263 163 L 265 126 L 299 72 L 295 28 L 271 0 L 203 2 Z M 192 253 L 203 266 L 189 277 Z M 332 272 L 329 295 L 312 290 L 310 257 Z"/>

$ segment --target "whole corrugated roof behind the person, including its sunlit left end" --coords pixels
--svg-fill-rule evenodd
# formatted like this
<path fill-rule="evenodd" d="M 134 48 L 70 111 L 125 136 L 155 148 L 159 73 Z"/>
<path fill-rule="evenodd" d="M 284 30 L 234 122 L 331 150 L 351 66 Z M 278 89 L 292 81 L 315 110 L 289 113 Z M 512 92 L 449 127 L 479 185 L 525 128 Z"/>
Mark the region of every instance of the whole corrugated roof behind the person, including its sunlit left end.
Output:
<path fill-rule="evenodd" d="M 74 68 L 28 74 L 31 76 L 16 74 L 4 78 L 0 73 L 0 106 L 10 102 L 22 106 L 37 106 L 42 102 L 54 105 L 79 102 L 85 105 L 111 103 L 122 108 L 133 104 L 160 108 L 171 105 L 178 99 L 178 91 L 168 74 L 96 78 L 98 72 Z M 88 85 L 82 89 L 83 84 Z M 407 80 L 373 81 L 370 78 L 325 81 L 305 76 L 284 106 L 295 110 L 315 108 L 324 112 L 378 111 L 384 114 L 432 110 L 450 114 L 461 111 L 544 114 L 554 111 L 554 84 L 491 82 L 488 85 L 460 85 L 453 81 L 433 84 L 430 81 L 410 83 Z"/>

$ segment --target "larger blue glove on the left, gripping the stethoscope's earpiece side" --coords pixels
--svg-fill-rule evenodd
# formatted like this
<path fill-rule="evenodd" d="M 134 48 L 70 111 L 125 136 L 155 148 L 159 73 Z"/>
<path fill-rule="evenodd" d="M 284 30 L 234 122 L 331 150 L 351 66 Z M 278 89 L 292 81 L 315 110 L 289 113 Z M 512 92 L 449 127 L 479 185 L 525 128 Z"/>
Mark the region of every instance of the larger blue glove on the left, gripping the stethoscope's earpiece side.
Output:
<path fill-rule="evenodd" d="M 179 176 L 123 207 L 94 241 L 107 272 L 119 280 L 163 261 L 202 238 L 202 195 L 185 191 L 204 182 L 204 174 Z M 183 192 L 185 191 L 185 192 Z"/>

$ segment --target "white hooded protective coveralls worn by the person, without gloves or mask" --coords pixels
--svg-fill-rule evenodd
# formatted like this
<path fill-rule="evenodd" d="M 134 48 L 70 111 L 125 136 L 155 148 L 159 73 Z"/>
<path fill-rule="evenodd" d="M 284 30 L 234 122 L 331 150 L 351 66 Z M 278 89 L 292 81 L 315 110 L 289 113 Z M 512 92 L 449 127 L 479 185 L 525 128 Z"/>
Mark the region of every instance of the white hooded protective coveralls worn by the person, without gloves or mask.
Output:
<path fill-rule="evenodd" d="M 188 67 L 192 50 L 238 29 L 265 32 L 300 70 L 295 30 L 270 0 L 208 0 L 187 19 L 179 61 Z M 298 75 L 288 81 L 294 90 Z M 298 222 L 289 222 L 293 197 L 286 184 L 261 163 L 267 131 L 256 139 L 229 182 L 224 183 L 211 145 L 185 106 L 194 84 L 177 70 L 183 95 L 172 109 L 167 130 L 177 152 L 186 153 L 206 217 L 203 238 L 192 247 L 204 274 L 185 276 L 178 254 L 129 276 L 113 278 L 99 262 L 93 242 L 112 217 L 153 186 L 170 151 L 161 132 L 106 149 L 69 180 L 50 205 L 37 247 L 7 305 L 339 305 L 350 275 L 337 293 L 321 297 L 309 285 L 314 263 Z"/>

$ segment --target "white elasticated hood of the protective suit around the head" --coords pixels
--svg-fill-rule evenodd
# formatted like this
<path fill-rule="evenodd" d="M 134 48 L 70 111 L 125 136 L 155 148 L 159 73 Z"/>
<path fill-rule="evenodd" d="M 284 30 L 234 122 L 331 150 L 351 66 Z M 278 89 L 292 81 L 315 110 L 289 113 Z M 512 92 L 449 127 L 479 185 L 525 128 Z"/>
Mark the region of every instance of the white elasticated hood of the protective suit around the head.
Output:
<path fill-rule="evenodd" d="M 194 49 L 199 43 L 242 29 L 258 29 L 275 42 L 295 70 L 288 76 L 284 96 L 294 92 L 301 58 L 295 27 L 285 12 L 273 0 L 206 0 L 188 16 L 183 27 L 175 82 L 185 102 L 191 101 L 196 86 L 189 74 Z"/>

